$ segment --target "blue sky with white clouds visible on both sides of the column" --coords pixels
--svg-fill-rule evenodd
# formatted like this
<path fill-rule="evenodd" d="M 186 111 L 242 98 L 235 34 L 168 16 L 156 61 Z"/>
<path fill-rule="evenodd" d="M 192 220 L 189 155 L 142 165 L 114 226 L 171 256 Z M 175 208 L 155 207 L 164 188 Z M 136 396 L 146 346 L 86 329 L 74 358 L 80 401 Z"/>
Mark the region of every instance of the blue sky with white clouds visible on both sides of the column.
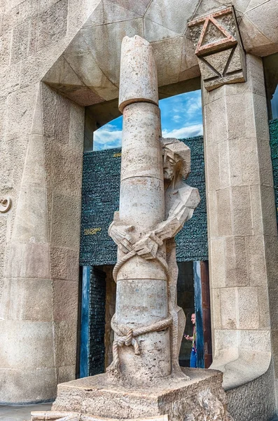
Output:
<path fill-rule="evenodd" d="M 164 138 L 190 138 L 202 135 L 201 91 L 181 93 L 159 102 L 162 136 Z M 123 117 L 105 124 L 94 133 L 94 151 L 120 147 Z"/>

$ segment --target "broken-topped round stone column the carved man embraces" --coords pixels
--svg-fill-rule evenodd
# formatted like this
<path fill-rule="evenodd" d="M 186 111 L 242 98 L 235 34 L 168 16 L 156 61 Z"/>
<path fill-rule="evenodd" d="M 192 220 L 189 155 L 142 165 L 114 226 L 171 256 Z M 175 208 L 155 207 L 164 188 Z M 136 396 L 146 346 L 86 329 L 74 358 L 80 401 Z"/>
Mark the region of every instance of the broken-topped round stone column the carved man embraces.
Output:
<path fill-rule="evenodd" d="M 165 218 L 160 146 L 160 110 L 153 50 L 139 36 L 122 44 L 119 109 L 123 111 L 120 225 L 138 241 Z M 160 253 L 165 255 L 165 246 Z M 123 256 L 119 250 L 119 261 Z M 157 259 L 134 255 L 117 275 L 116 316 L 129 328 L 150 326 L 168 316 L 167 276 Z M 116 336 L 117 338 L 117 336 Z M 138 337 L 140 355 L 121 347 L 120 371 L 137 382 L 169 375 L 169 329 Z"/>

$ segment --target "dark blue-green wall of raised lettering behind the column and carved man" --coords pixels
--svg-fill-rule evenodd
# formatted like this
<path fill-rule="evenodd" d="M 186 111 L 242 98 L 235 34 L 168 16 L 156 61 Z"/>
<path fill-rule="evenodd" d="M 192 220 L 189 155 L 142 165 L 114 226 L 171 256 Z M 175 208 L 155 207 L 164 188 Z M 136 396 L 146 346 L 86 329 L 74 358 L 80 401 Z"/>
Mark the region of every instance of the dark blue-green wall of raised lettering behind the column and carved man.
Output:
<path fill-rule="evenodd" d="M 197 187 L 201 203 L 193 218 L 176 236 L 179 262 L 207 260 L 207 213 L 204 187 L 204 142 L 202 136 L 182 139 L 191 149 L 189 185 Z M 120 194 L 120 149 L 87 152 L 83 158 L 81 214 L 81 265 L 115 265 L 117 248 L 107 230 L 118 210 Z"/>

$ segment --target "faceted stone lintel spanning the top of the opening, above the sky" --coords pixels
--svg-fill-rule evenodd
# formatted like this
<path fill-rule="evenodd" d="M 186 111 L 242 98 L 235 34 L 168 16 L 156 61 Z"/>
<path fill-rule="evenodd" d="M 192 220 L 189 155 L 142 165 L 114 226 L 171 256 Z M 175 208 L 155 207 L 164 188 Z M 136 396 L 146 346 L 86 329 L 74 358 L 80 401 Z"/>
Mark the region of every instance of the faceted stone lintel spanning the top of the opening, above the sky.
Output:
<path fill-rule="evenodd" d="M 116 98 L 120 77 L 120 43 L 123 36 L 135 34 L 144 36 L 154 48 L 159 86 L 192 79 L 200 75 L 200 69 L 194 57 L 193 41 L 186 29 L 187 22 L 231 5 L 235 6 L 243 46 L 247 52 L 263 56 L 278 51 L 273 23 L 277 19 L 275 0 L 258 0 L 256 4 L 252 1 L 249 4 L 246 0 L 194 0 L 186 7 L 181 0 L 153 0 L 144 6 L 143 3 L 137 5 L 136 2 L 99 1 L 95 12 L 83 23 L 64 55 L 55 62 L 43 80 L 81 105 Z M 258 25 L 258 11 L 264 16 L 263 25 Z M 270 28 L 273 28 L 272 34 Z M 184 46 L 186 51 L 183 50 Z M 231 72 L 238 69 L 241 55 L 237 51 L 233 54 Z M 71 67 L 64 72 L 67 62 L 74 72 Z M 90 72 L 86 70 L 89 66 Z M 244 72 L 237 79 L 243 81 Z M 224 76 L 223 81 L 232 81 L 232 76 Z"/>

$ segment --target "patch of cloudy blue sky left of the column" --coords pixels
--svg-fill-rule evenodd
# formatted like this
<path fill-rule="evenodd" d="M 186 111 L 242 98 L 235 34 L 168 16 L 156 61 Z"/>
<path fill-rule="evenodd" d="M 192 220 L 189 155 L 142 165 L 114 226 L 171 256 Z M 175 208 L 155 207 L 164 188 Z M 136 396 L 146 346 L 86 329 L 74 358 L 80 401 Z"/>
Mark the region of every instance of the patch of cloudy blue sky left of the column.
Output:
<path fill-rule="evenodd" d="M 122 145 L 122 131 L 113 124 L 106 124 L 94 132 L 94 151 L 120 147 Z"/>

